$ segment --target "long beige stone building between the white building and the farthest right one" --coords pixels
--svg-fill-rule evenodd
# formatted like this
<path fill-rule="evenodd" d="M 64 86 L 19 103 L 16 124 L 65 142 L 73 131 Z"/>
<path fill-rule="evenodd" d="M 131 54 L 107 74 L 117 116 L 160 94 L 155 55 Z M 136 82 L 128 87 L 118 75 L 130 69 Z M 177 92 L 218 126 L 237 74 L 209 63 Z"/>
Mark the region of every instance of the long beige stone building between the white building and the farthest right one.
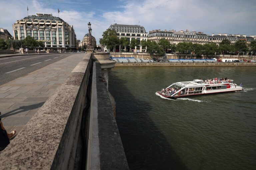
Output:
<path fill-rule="evenodd" d="M 208 35 L 202 32 L 189 31 L 174 31 L 174 30 L 153 30 L 148 33 L 148 40 L 159 42 L 161 39 L 168 40 L 171 44 L 178 44 L 180 42 L 192 42 L 198 44 L 205 44 L 209 42 Z"/>

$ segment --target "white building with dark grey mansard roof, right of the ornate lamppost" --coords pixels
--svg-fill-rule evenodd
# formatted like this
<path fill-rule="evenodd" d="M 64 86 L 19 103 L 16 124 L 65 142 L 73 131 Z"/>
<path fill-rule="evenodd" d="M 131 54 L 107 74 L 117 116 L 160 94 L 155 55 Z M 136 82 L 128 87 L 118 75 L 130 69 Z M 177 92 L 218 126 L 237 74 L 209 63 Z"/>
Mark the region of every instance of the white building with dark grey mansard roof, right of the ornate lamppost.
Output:
<path fill-rule="evenodd" d="M 126 38 L 129 42 L 132 39 L 136 39 L 138 41 L 147 40 L 148 35 L 143 26 L 140 25 L 123 25 L 123 24 L 111 24 L 109 29 L 116 31 L 117 37 L 120 39 L 121 37 Z M 119 46 L 119 49 L 121 47 Z M 135 49 L 139 49 L 142 52 L 142 47 L 135 47 Z M 121 50 L 121 49 L 120 49 Z M 130 48 L 124 47 L 125 51 L 130 51 Z"/>

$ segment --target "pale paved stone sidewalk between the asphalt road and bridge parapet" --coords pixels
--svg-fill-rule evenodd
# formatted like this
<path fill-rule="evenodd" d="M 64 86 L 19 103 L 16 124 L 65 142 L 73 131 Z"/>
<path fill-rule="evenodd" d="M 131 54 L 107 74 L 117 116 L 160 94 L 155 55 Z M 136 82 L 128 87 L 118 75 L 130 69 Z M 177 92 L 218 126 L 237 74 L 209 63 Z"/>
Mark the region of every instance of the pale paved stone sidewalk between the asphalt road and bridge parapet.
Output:
<path fill-rule="evenodd" d="M 67 78 L 84 55 L 85 53 L 73 54 L 1 85 L 0 111 L 7 132 L 16 129 L 18 133 Z"/>

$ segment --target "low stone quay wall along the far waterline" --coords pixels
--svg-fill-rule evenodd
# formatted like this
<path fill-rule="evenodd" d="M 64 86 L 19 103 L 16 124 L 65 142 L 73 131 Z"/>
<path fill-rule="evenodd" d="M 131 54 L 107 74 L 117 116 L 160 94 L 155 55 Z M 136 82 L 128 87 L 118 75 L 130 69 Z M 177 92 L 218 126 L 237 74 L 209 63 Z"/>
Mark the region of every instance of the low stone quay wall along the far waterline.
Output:
<path fill-rule="evenodd" d="M 167 62 L 154 62 L 154 63 L 116 63 L 115 67 L 203 67 L 203 66 L 256 66 L 256 63 L 239 63 L 239 62 L 218 62 L 218 63 L 167 63 Z"/>

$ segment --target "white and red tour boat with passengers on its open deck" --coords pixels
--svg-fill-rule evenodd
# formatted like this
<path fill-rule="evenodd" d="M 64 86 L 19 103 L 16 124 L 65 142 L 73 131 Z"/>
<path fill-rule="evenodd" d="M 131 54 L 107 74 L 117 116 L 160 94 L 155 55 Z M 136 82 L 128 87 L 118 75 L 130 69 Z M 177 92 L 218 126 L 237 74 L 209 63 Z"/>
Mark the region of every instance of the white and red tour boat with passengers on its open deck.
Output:
<path fill-rule="evenodd" d="M 226 78 L 215 78 L 209 80 L 197 79 L 193 81 L 173 83 L 172 85 L 157 93 L 167 98 L 176 99 L 180 97 L 222 92 L 233 92 L 241 90 L 243 90 L 242 83 L 238 86 L 235 83 L 233 83 L 233 80 Z"/>

